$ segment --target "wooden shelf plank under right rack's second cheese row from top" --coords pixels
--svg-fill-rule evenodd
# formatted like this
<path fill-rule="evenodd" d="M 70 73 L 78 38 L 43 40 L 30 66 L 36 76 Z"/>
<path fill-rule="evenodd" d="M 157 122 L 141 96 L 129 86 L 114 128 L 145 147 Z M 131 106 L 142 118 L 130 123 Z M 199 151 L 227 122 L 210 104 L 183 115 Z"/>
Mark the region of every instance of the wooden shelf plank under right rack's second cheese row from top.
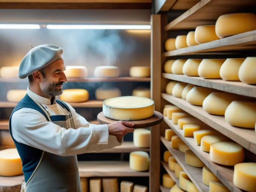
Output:
<path fill-rule="evenodd" d="M 190 83 L 201 87 L 208 87 L 220 91 L 256 98 L 256 86 L 248 85 L 243 82 L 224 81 L 223 79 L 203 79 L 201 77 L 188 77 L 185 75 L 169 73 L 162 73 L 162 76 L 167 79 Z"/>

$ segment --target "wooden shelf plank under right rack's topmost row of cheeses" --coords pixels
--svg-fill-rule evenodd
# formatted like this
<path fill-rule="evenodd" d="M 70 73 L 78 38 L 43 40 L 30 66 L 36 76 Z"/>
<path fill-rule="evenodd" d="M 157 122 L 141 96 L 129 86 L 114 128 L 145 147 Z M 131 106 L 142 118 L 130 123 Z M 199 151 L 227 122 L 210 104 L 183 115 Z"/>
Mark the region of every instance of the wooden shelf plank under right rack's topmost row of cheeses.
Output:
<path fill-rule="evenodd" d="M 256 45 L 256 30 L 248 31 L 231 37 L 195 45 L 192 47 L 186 47 L 177 49 L 174 51 L 164 52 L 163 56 L 176 56 L 176 55 L 191 55 L 202 52 L 210 51 L 228 51 L 228 50 L 243 50 L 252 49 Z"/>

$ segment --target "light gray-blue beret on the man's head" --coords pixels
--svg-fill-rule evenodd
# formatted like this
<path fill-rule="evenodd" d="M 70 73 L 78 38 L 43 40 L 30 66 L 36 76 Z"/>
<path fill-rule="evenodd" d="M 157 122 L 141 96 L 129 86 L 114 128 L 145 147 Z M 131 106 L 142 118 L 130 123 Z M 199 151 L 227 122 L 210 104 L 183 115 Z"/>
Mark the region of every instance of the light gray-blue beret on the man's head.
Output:
<path fill-rule="evenodd" d="M 25 79 L 57 59 L 61 59 L 62 54 L 63 49 L 56 45 L 39 45 L 34 47 L 25 55 L 20 63 L 19 78 Z"/>

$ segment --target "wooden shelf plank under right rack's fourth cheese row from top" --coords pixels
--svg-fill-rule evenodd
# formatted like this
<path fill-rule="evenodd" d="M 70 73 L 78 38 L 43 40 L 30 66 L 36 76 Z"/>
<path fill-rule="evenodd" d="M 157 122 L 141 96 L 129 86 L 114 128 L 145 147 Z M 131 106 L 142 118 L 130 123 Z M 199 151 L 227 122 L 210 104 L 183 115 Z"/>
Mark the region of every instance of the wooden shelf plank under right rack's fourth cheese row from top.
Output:
<path fill-rule="evenodd" d="M 234 169 L 233 166 L 223 166 L 214 163 L 210 160 L 209 153 L 201 151 L 200 146 L 197 146 L 194 137 L 184 137 L 183 130 L 178 128 L 178 125 L 174 125 L 172 120 L 168 120 L 167 117 L 164 118 L 165 122 L 172 128 L 172 130 L 181 138 L 189 148 L 201 159 L 201 161 L 214 173 L 220 181 L 232 192 L 242 192 L 233 184 Z M 164 137 L 161 140 L 165 140 Z M 167 143 L 167 140 L 165 141 Z"/>

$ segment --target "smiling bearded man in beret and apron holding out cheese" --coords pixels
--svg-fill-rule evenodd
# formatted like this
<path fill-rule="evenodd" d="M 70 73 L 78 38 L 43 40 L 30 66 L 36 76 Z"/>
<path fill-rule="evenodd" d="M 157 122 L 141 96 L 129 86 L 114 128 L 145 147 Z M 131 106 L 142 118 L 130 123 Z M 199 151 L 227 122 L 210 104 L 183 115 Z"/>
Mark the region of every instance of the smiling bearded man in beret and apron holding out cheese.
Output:
<path fill-rule="evenodd" d="M 77 154 L 102 151 L 122 144 L 133 123 L 89 124 L 71 105 L 55 96 L 67 82 L 63 49 L 40 45 L 19 67 L 28 77 L 26 96 L 14 108 L 9 131 L 22 159 L 26 192 L 81 192 Z"/>

